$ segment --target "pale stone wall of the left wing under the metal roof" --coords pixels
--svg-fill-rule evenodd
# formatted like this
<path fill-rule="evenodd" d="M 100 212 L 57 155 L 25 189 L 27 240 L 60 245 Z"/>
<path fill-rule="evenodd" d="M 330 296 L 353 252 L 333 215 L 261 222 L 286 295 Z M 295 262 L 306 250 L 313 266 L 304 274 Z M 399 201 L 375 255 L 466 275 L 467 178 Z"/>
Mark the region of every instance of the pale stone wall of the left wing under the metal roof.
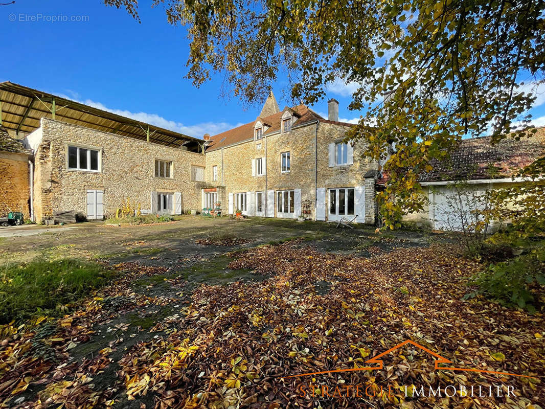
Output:
<path fill-rule="evenodd" d="M 42 140 L 35 154 L 37 221 L 53 212 L 77 210 L 86 215 L 87 189 L 104 190 L 104 213 L 114 212 L 124 199 L 151 209 L 151 193 L 181 193 L 183 210 L 201 208 L 204 182 L 191 181 L 191 166 L 204 166 L 205 157 L 189 151 L 42 119 Z M 98 148 L 99 172 L 69 170 L 68 145 Z M 172 161 L 172 177 L 156 178 L 154 160 Z"/>

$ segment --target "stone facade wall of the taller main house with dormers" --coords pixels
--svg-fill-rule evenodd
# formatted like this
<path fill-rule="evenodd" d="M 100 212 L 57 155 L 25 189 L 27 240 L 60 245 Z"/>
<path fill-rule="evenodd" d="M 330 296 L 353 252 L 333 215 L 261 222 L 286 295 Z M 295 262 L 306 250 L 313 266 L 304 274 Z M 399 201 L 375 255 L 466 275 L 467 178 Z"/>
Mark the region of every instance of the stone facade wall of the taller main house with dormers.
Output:
<path fill-rule="evenodd" d="M 317 129 L 317 124 L 311 123 L 299 128 L 294 127 L 287 133 L 264 137 L 261 141 L 251 140 L 223 148 L 223 151 L 217 149 L 207 152 L 206 180 L 209 184 L 223 184 L 227 194 L 301 189 L 301 201 L 310 200 L 316 203 L 316 166 L 318 166 L 318 188 L 365 186 L 365 221 L 373 224 L 376 211 L 375 179 L 374 175 L 368 178 L 365 178 L 365 175 L 368 171 L 377 170 L 378 164 L 362 157 L 365 146 L 358 143 L 354 147 L 353 165 L 329 167 L 329 143 L 341 141 L 348 129 L 343 125 L 323 122 L 319 123 Z M 290 152 L 289 173 L 281 172 L 283 152 Z M 262 157 L 267 159 L 267 174 L 252 176 L 252 159 Z M 212 180 L 214 165 L 218 167 L 217 181 Z M 314 218 L 314 205 L 312 212 Z"/>

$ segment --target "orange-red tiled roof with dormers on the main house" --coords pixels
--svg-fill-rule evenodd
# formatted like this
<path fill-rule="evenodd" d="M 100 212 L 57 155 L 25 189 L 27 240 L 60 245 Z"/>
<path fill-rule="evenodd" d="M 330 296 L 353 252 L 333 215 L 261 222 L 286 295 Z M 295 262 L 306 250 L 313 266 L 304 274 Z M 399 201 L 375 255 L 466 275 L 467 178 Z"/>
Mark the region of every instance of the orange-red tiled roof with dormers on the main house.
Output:
<path fill-rule="evenodd" d="M 306 105 L 298 105 L 291 108 L 291 110 L 294 111 L 296 120 L 293 123 L 292 127 L 295 127 L 296 125 L 304 124 L 310 121 L 320 121 L 323 123 L 330 123 L 335 125 L 343 125 L 346 127 L 353 127 L 353 124 L 349 124 L 346 122 L 336 122 L 336 121 L 328 121 L 328 119 L 324 119 L 321 116 L 319 116 L 316 112 L 309 109 Z M 275 133 L 276 131 L 279 131 L 281 128 L 281 118 L 282 113 L 277 112 L 273 115 L 269 115 L 268 117 L 258 117 L 258 119 L 268 125 L 270 125 L 270 128 L 265 131 L 264 135 L 269 135 L 272 133 Z M 214 135 L 210 138 L 210 144 L 207 148 L 207 152 L 215 151 L 216 149 L 225 148 L 227 146 L 234 145 L 235 143 L 248 141 L 253 139 L 253 125 L 256 123 L 256 121 L 249 122 L 244 125 L 240 125 L 240 127 L 229 129 L 228 131 L 222 132 L 221 134 Z"/>

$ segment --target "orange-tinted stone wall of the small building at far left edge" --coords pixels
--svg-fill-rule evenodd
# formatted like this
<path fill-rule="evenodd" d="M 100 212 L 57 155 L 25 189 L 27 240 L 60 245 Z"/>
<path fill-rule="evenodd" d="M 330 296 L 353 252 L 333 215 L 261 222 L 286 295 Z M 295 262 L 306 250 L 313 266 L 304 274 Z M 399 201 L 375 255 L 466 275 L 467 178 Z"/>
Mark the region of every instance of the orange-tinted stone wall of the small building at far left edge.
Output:
<path fill-rule="evenodd" d="M 0 216 L 22 212 L 29 218 L 28 155 L 0 152 Z"/>

